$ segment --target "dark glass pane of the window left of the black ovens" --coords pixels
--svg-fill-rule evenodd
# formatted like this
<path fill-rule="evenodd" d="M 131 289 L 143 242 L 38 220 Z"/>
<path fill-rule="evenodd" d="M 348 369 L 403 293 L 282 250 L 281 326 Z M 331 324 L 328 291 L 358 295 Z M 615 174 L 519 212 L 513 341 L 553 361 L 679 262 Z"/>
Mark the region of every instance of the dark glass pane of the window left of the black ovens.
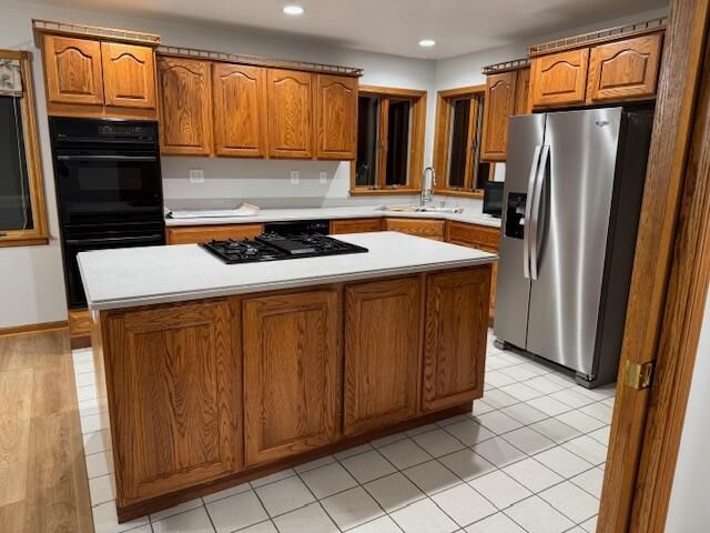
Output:
<path fill-rule="evenodd" d="M 33 228 L 21 105 L 17 97 L 0 97 L 0 231 Z"/>

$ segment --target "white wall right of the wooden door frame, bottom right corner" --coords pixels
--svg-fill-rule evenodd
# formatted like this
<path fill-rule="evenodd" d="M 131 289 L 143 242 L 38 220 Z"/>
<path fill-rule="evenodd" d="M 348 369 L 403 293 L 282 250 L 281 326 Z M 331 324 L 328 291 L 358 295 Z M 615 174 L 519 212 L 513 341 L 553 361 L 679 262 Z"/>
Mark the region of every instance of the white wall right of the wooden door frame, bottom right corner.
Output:
<path fill-rule="evenodd" d="M 688 410 L 670 495 L 667 533 L 704 533 L 710 529 L 710 292 L 700 332 Z"/>

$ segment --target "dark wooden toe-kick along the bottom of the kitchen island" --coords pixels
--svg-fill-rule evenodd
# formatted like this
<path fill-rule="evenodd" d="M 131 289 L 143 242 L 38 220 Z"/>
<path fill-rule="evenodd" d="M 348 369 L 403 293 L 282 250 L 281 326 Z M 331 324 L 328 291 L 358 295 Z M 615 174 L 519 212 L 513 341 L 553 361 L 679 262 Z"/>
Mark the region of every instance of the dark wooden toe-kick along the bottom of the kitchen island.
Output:
<path fill-rule="evenodd" d="M 450 416 L 456 416 L 457 414 L 464 414 L 464 413 L 470 413 L 470 412 L 471 412 L 471 402 L 467 402 L 462 405 L 457 405 L 455 408 L 437 411 L 435 413 L 428 413 L 422 416 L 417 416 L 415 419 L 406 420 L 397 424 L 388 425 L 386 428 L 382 428 L 378 430 L 369 431 L 367 433 L 354 435 L 354 436 L 344 439 L 342 441 L 338 441 L 334 444 L 320 447 L 317 450 L 313 450 L 293 457 L 276 461 L 271 464 L 251 467 L 237 474 L 230 475 L 227 477 L 211 481 L 209 483 L 203 483 L 201 485 L 193 486 L 190 489 L 172 492 L 170 494 L 165 494 L 163 496 L 154 497 L 151 500 L 145 500 L 143 502 L 140 502 L 133 505 L 128 505 L 124 507 L 116 506 L 119 523 L 122 524 L 130 520 L 138 519 L 139 516 L 145 516 L 150 513 L 162 511 L 164 509 L 169 509 L 174 505 L 178 505 L 179 503 L 193 500 L 194 497 L 212 494 L 214 492 L 219 492 L 224 489 L 229 489 L 231 486 L 235 486 L 241 483 L 255 480 L 257 477 L 263 477 L 265 475 L 273 474 L 274 472 L 278 472 L 278 471 L 295 466 L 297 464 L 307 463 L 308 461 L 314 461 L 325 455 L 337 453 L 347 447 L 364 444 L 375 439 L 399 433 L 400 431 L 410 430 L 419 425 L 429 424 L 432 422 L 436 422 L 437 420 L 448 419 Z"/>

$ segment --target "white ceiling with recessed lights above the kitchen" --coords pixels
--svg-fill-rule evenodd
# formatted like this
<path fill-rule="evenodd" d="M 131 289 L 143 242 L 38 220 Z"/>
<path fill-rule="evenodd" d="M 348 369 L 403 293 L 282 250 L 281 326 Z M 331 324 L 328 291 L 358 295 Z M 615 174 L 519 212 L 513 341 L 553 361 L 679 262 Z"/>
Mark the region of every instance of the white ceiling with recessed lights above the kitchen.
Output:
<path fill-rule="evenodd" d="M 200 21 L 333 46 L 443 59 L 668 6 L 668 0 L 36 0 L 135 17 Z M 296 3 L 301 17 L 283 7 Z M 420 39 L 436 40 L 433 49 Z"/>

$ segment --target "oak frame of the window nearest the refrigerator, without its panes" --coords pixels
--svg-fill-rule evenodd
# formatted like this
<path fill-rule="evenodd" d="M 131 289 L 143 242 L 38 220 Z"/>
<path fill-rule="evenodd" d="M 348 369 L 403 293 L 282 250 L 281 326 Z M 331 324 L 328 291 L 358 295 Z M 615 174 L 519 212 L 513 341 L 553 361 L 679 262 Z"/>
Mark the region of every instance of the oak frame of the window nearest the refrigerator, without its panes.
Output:
<path fill-rule="evenodd" d="M 469 124 L 468 124 L 468 139 L 467 139 L 467 149 L 466 149 L 466 172 L 465 172 L 465 184 L 463 189 L 452 188 L 448 185 L 448 168 L 449 168 L 449 145 L 452 142 L 450 133 L 453 125 L 453 115 L 454 115 L 454 105 L 453 103 L 457 100 L 478 97 L 483 99 L 483 108 L 477 113 L 469 114 Z M 465 197 L 465 198 L 484 198 L 483 189 L 473 189 L 474 183 L 470 181 L 475 180 L 470 165 L 474 164 L 475 152 L 478 151 L 480 153 L 480 144 L 483 140 L 483 129 L 478 130 L 478 127 L 471 128 L 474 121 L 476 123 L 483 119 L 483 114 L 485 112 L 486 105 L 486 84 L 479 86 L 469 86 L 462 87 L 458 89 L 447 89 L 443 91 L 438 91 L 436 93 L 436 128 L 434 132 L 434 170 L 436 171 L 436 187 L 434 190 L 437 194 L 450 195 L 450 197 Z M 475 114 L 475 118 L 474 118 Z M 474 140 L 476 141 L 476 147 L 473 147 Z M 485 161 L 480 161 L 480 155 L 478 158 L 478 163 L 489 164 L 489 181 L 493 181 L 495 178 L 496 165 L 495 163 L 486 163 Z M 470 180 L 470 181 L 469 181 Z M 469 184 L 470 189 L 466 188 L 466 184 Z"/>

